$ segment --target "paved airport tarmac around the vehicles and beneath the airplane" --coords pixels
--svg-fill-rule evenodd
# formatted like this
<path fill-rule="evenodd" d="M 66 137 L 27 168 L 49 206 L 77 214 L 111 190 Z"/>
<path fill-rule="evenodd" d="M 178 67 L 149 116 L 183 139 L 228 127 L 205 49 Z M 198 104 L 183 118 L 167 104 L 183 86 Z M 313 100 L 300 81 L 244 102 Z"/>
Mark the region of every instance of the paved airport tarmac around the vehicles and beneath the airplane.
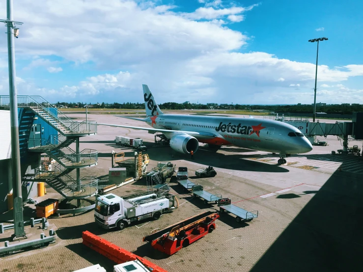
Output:
<path fill-rule="evenodd" d="M 80 113 L 69 116 L 80 121 L 85 119 Z M 112 114 L 88 114 L 88 120 L 147 127 L 143 122 Z M 92 148 L 99 152 L 98 164 L 82 168 L 81 177 L 96 176 L 107 180 L 109 167 L 112 167 L 112 150 L 124 152 L 126 158 L 133 157 L 133 150 L 114 143 L 115 136 L 125 135 L 140 137 L 148 146 L 154 143 L 154 135 L 147 131 L 98 126 L 97 135 L 80 140 L 81 150 Z M 324 140 L 324 137 L 318 138 Z M 143 152 L 150 157 L 148 169 L 158 162 L 187 166 L 193 182 L 211 193 L 230 197 L 234 205 L 245 210 L 258 210 L 258 218 L 237 223 L 233 215 L 221 215 L 213 233 L 172 256 L 164 255 L 142 242 L 142 237 L 156 228 L 165 228 L 201 212 L 219 211 L 215 204 L 204 205 L 201 199 L 183 190 L 172 177 L 168 180 L 170 192 L 180 203 L 173 213 L 164 214 L 159 220 L 141 221 L 122 231 L 98 228 L 92 211 L 75 217 L 50 217 L 48 220 L 56 230 L 57 243 L 1 257 L 0 272 L 73 272 L 94 264 L 112 272 L 115 263 L 82 245 L 85 230 L 169 272 L 362 271 L 362 157 L 331 155 L 331 151 L 341 149 L 340 141 L 334 136 L 325 140 L 328 146 L 314 146 L 307 154 L 292 155 L 286 158 L 285 165 L 278 165 L 278 156 L 271 153 L 233 146 L 211 151 L 201 145 L 195 160 L 168 146 L 151 147 Z M 353 144 L 362 148 L 362 141 L 349 143 Z M 216 169 L 217 176 L 195 177 L 196 169 L 209 165 Z M 140 179 L 112 190 L 112 193 L 122 196 L 145 190 L 145 181 Z M 54 198 L 51 188 L 47 188 L 47 192 L 52 193 L 49 198 Z M 5 232 L 7 236 L 11 233 Z"/>

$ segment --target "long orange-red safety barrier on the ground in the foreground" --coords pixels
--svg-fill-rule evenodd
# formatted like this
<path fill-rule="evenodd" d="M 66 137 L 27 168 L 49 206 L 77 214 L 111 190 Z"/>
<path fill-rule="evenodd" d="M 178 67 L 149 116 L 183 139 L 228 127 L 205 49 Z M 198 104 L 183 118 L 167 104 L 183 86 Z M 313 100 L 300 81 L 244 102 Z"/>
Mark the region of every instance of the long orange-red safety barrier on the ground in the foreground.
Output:
<path fill-rule="evenodd" d="M 116 264 L 122 264 L 129 261 L 139 260 L 144 266 L 149 269 L 152 269 L 153 272 L 168 272 L 161 267 L 155 265 L 154 263 L 127 251 L 117 245 L 112 244 L 111 242 L 90 233 L 89 231 L 84 231 L 82 233 L 82 239 L 84 245 L 92 248 L 96 252 L 104 255 L 108 259 L 112 260 Z"/>

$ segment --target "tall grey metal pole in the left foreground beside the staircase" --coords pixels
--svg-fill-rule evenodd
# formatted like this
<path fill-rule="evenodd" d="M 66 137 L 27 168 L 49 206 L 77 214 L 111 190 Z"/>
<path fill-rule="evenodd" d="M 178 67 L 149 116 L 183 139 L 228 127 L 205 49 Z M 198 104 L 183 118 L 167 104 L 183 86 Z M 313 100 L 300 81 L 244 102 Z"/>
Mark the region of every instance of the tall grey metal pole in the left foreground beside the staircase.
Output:
<path fill-rule="evenodd" d="M 19 149 L 19 123 L 18 123 L 18 98 L 15 76 L 15 52 L 14 37 L 18 37 L 22 22 L 13 21 L 13 1 L 6 1 L 7 19 L 1 19 L 7 27 L 7 55 L 9 62 L 9 98 L 10 98 L 10 124 L 11 124 L 11 173 L 14 201 L 14 234 L 12 239 L 19 240 L 27 238 L 24 231 L 23 199 L 22 199 L 22 177 L 20 172 L 20 149 Z"/>

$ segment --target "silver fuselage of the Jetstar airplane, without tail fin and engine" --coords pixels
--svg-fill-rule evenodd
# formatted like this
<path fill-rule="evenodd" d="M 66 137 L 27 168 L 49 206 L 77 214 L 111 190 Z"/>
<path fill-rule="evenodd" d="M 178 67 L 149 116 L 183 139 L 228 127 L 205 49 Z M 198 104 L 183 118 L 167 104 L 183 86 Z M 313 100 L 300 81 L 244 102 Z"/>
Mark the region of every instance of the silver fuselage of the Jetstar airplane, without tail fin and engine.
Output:
<path fill-rule="evenodd" d="M 232 144 L 280 154 L 298 154 L 312 150 L 310 142 L 297 128 L 275 120 L 162 114 L 147 117 L 146 122 L 155 129 L 204 133 L 203 136 L 193 136 L 199 142 L 213 145 Z M 291 136 L 294 135 L 291 132 L 298 134 Z M 167 137 L 175 135 L 164 134 Z"/>

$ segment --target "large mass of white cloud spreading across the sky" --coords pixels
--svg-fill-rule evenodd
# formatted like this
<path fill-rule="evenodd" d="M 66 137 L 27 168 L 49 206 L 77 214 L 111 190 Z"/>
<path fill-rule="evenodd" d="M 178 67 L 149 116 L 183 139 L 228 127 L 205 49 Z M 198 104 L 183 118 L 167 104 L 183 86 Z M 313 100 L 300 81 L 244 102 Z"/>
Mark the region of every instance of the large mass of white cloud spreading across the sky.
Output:
<path fill-rule="evenodd" d="M 86 95 L 90 102 L 137 102 L 142 99 L 141 83 L 146 83 L 159 97 L 158 102 L 185 101 L 188 97 L 222 103 L 236 96 L 241 104 L 273 101 L 283 90 L 294 91 L 293 86 L 301 88 L 301 93 L 313 87 L 314 63 L 241 50 L 252 36 L 232 30 L 228 24 L 244 15 L 248 19 L 246 12 L 256 5 L 199 2 L 202 7 L 186 13 L 176 12 L 171 5 L 158 5 L 160 1 L 15 1 L 17 20 L 28 22 L 22 26 L 16 45 L 17 57 L 27 58 L 28 68 L 62 66 L 69 72 L 76 67 L 75 73 L 94 75 L 45 89 L 46 77 L 40 74 L 40 80 L 34 79 L 25 69 L 19 73 L 26 79 L 18 84 L 19 92 L 34 94 L 38 90 L 39 95 L 50 99 Z M 0 10 L 5 9 L 0 2 Z M 0 40 L 0 45 L 0 68 L 1 63 L 5 68 L 6 39 Z M 58 58 L 62 60 L 49 60 Z M 61 65 L 64 63 L 70 65 Z M 106 74 L 106 70 L 115 72 Z M 318 66 L 318 80 L 327 84 L 362 75 L 363 65 Z M 1 78 L 7 79 L 6 69 L 0 70 Z M 7 86 L 6 82 L 0 84 Z"/>

